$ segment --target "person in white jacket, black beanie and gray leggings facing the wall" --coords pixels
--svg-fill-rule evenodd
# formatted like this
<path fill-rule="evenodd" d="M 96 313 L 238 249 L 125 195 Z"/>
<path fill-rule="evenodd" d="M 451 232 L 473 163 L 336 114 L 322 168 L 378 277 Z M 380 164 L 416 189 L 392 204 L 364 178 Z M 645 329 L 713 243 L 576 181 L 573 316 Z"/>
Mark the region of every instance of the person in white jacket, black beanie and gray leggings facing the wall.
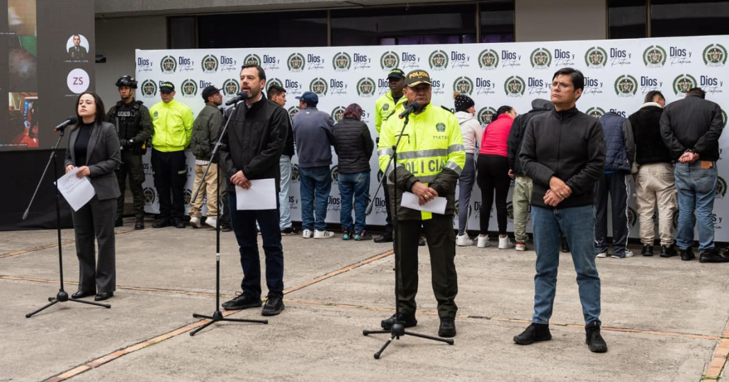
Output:
<path fill-rule="evenodd" d="M 473 190 L 473 183 L 476 181 L 474 152 L 481 142 L 483 127 L 474 116 L 476 114 L 475 103 L 469 96 L 460 92 L 453 92 L 453 106 L 456 108 L 456 118 L 461 124 L 461 135 L 463 135 L 463 144 L 466 149 L 466 165 L 459 178 L 458 236 L 456 237 L 456 244 L 468 246 L 473 245 L 473 240 L 468 236 L 466 228 L 468 226 L 468 206 L 471 201 L 471 191 Z"/>

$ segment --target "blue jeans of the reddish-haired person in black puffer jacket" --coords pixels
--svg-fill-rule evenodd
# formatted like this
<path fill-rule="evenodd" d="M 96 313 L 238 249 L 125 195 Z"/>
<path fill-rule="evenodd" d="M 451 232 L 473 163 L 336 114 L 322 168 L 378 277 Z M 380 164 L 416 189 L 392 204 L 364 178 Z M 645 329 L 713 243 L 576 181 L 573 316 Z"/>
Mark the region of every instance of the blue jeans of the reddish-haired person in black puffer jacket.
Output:
<path fill-rule="evenodd" d="M 340 173 L 339 193 L 342 196 L 342 210 L 339 213 L 342 230 L 362 233 L 367 225 L 364 223 L 364 219 L 367 218 L 364 210 L 367 210 L 367 202 L 370 199 L 370 172 Z M 354 226 L 352 226 L 352 196 L 354 196 Z"/>

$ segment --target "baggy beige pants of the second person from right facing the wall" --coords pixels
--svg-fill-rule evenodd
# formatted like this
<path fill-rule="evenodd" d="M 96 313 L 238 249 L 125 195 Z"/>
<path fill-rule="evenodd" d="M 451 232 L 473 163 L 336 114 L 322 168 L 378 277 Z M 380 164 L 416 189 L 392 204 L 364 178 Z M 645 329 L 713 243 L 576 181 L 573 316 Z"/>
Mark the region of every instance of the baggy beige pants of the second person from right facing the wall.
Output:
<path fill-rule="evenodd" d="M 674 244 L 673 220 L 678 202 L 674 167 L 670 163 L 642 164 L 636 182 L 636 205 L 640 219 L 640 241 L 653 245 L 653 212 L 658 202 L 658 236 L 660 245 Z"/>

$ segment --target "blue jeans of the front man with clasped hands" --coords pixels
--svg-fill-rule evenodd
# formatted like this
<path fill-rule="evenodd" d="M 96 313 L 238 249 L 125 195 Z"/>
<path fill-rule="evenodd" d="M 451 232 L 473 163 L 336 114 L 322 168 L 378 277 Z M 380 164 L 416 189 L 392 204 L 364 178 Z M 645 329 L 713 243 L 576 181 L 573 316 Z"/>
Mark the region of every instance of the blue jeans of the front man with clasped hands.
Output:
<path fill-rule="evenodd" d="M 557 291 L 557 268 L 561 245 L 560 230 L 572 250 L 577 271 L 577 286 L 585 324 L 600 324 L 600 276 L 595 266 L 595 207 L 569 207 L 549 210 L 531 207 L 534 219 L 534 250 L 537 252 L 537 274 L 534 276 L 534 317 L 537 324 L 548 324 L 552 317 Z"/>

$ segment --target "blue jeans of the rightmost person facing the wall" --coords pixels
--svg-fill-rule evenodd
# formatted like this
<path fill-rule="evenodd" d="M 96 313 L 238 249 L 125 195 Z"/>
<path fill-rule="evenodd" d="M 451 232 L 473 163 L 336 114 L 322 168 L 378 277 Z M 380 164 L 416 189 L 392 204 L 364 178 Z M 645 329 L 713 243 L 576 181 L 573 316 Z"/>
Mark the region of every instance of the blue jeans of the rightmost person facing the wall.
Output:
<path fill-rule="evenodd" d="M 693 247 L 693 212 L 696 212 L 698 251 L 714 249 L 714 197 L 717 195 L 717 163 L 702 169 L 701 162 L 677 163 L 674 170 L 679 191 L 679 223 L 676 244 Z"/>

